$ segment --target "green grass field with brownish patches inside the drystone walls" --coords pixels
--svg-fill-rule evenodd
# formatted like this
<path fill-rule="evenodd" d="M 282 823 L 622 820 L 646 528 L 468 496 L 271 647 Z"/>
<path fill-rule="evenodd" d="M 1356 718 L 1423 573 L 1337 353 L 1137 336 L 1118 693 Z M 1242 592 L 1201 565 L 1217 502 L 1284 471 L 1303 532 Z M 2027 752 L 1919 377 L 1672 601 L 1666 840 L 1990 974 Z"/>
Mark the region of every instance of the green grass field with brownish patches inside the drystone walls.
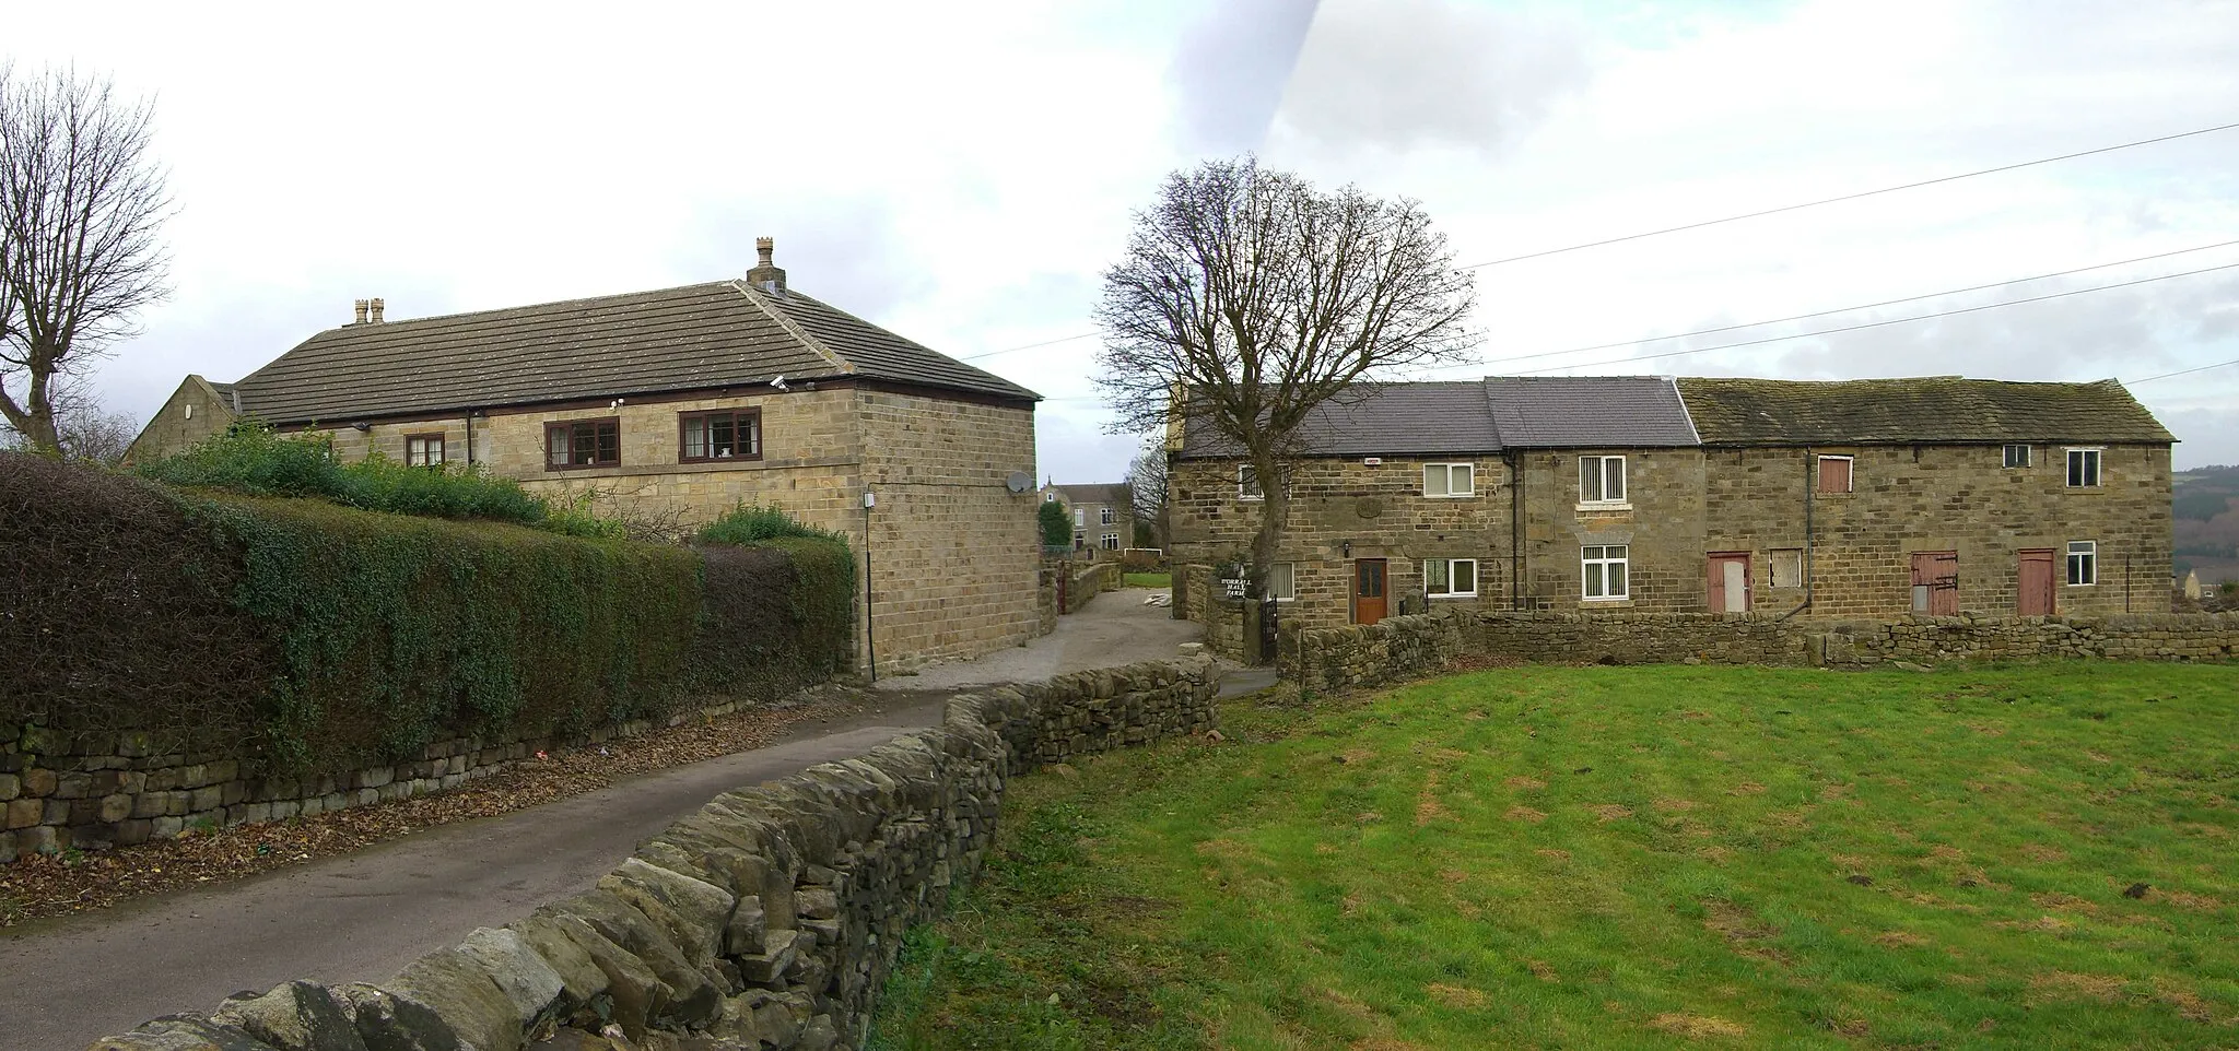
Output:
<path fill-rule="evenodd" d="M 1500 669 L 1019 778 L 882 1049 L 2239 1047 L 2239 669 Z"/>

